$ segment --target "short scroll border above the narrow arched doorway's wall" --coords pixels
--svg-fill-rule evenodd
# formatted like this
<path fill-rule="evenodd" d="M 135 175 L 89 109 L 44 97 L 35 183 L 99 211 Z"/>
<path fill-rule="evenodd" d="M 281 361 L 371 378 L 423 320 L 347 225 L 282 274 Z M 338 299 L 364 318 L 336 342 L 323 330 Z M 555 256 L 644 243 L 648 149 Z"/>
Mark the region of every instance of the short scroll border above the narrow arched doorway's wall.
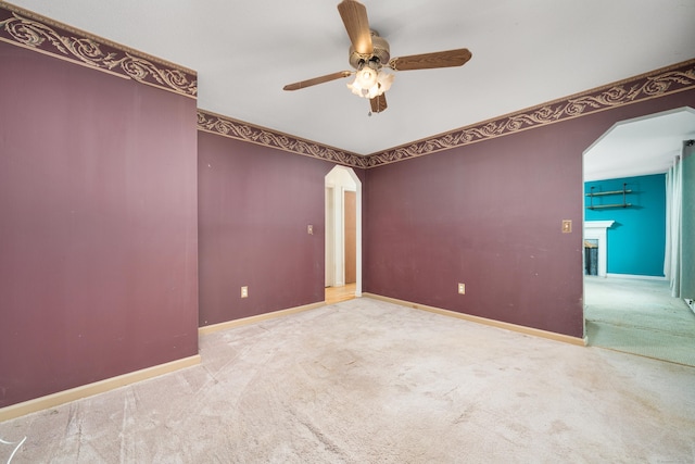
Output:
<path fill-rule="evenodd" d="M 278 133 L 253 124 L 231 120 L 226 116 L 198 110 L 198 129 L 224 137 L 243 140 L 265 147 L 277 148 L 295 154 L 317 158 L 331 163 L 350 167 L 366 168 L 369 163 L 367 156 L 361 156 L 349 151 L 328 147 L 311 140 Z"/>

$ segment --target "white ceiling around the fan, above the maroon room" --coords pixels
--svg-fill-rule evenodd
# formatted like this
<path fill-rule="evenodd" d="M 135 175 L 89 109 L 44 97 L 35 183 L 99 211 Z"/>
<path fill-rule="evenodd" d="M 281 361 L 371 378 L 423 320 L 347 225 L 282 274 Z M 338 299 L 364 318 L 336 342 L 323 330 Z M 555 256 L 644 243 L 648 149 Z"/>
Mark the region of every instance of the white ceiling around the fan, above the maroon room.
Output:
<path fill-rule="evenodd" d="M 202 110 L 371 154 L 695 58 L 694 0 L 364 0 L 391 55 L 468 48 L 463 67 L 396 73 L 389 108 L 350 79 L 338 0 L 13 0 L 198 72 Z"/>

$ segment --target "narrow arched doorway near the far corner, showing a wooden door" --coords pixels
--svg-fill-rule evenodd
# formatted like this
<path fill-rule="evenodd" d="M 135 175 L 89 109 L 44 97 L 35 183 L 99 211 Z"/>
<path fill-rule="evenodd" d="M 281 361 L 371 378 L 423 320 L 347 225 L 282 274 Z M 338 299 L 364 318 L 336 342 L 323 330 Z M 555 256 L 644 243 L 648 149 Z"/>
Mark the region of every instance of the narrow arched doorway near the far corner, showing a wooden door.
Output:
<path fill-rule="evenodd" d="M 336 166 L 326 175 L 326 302 L 362 296 L 362 183 Z"/>

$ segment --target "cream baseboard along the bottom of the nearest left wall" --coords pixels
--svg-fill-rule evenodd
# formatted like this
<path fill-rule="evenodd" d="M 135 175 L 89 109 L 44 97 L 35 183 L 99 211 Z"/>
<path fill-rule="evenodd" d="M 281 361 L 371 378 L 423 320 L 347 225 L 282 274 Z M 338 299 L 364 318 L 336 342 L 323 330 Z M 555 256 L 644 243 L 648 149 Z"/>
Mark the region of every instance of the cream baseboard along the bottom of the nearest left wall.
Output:
<path fill-rule="evenodd" d="M 79 387 L 71 388 L 68 390 L 47 394 L 46 397 L 39 397 L 33 400 L 24 401 L 22 403 L 12 404 L 10 406 L 0 409 L 0 422 L 47 410 L 49 407 L 55 407 L 71 401 L 79 400 L 81 398 L 104 393 L 106 391 L 119 387 L 125 387 L 137 381 L 147 380 L 149 378 L 169 374 L 185 367 L 194 366 L 197 364 L 200 364 L 200 354 L 195 354 L 193 356 L 182 358 L 180 360 L 159 364 L 156 366 L 147 367 L 116 377 L 94 381 L 93 384 L 83 385 Z"/>

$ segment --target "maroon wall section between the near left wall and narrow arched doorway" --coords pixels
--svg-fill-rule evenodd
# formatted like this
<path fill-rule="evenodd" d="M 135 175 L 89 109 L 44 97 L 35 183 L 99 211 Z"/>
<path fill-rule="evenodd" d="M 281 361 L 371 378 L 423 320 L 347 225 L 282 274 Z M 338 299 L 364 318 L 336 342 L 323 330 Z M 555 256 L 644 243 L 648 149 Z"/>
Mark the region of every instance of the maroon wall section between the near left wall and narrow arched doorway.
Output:
<path fill-rule="evenodd" d="M 198 158 L 200 325 L 324 301 L 334 164 L 204 131 Z"/>

